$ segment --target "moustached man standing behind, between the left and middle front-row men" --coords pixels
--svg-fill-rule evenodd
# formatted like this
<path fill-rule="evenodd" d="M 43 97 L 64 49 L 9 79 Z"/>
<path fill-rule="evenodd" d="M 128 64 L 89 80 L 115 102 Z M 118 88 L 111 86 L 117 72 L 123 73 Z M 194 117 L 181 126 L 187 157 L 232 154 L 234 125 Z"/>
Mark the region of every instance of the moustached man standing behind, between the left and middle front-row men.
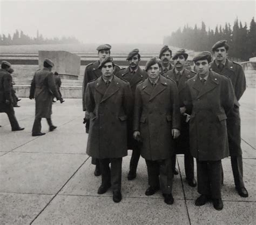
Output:
<path fill-rule="evenodd" d="M 139 67 L 140 54 L 138 49 L 133 49 L 127 56 L 126 60 L 129 62 L 129 67 L 119 70 L 117 77 L 127 80 L 130 83 L 134 105 L 134 93 L 138 83 L 147 78 L 147 73 Z M 132 149 L 132 156 L 130 161 L 130 171 L 128 173 L 128 180 L 136 178 L 136 171 L 140 156 L 139 142 L 133 138 L 133 111 L 128 119 L 128 149 Z"/>

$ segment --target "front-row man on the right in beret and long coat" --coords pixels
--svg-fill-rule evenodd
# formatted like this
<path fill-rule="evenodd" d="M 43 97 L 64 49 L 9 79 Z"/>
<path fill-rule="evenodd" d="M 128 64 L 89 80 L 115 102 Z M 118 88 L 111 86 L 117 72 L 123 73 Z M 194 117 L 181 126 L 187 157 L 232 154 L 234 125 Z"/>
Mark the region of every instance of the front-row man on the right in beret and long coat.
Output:
<path fill-rule="evenodd" d="M 191 112 L 190 151 L 197 160 L 196 206 L 212 199 L 214 208 L 221 210 L 221 159 L 229 155 L 226 119 L 234 90 L 228 78 L 210 70 L 210 52 L 199 53 L 193 61 L 198 73 L 186 82 L 184 102 Z"/>

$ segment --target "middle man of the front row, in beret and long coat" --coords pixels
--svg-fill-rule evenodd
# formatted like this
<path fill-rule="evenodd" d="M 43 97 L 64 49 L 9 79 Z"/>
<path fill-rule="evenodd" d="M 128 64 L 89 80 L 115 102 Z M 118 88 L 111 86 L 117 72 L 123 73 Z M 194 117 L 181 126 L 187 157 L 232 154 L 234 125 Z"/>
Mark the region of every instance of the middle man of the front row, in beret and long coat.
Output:
<path fill-rule="evenodd" d="M 173 204 L 173 139 L 180 134 L 179 97 L 176 83 L 160 76 L 160 68 L 158 59 L 151 58 L 145 66 L 149 78 L 137 85 L 133 137 L 142 141 L 140 151 L 146 160 L 149 188 L 145 195 L 161 187 L 165 203 Z"/>

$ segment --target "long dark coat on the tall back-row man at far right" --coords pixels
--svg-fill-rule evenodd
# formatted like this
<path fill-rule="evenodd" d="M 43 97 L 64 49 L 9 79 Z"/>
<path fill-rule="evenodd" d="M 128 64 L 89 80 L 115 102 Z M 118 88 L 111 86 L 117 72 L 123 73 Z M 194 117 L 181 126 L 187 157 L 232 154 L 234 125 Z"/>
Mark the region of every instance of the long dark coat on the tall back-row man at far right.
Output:
<path fill-rule="evenodd" d="M 246 89 L 245 73 L 242 70 L 241 65 L 231 62 L 230 60 L 226 61 L 226 64 L 221 71 L 219 71 L 215 62 L 212 63 L 211 68 L 217 73 L 224 74 L 226 77 L 230 78 L 232 82 L 235 100 L 233 110 L 227 117 L 228 144 L 230 146 L 231 156 L 241 155 L 241 120 L 239 113 L 240 104 L 238 101 Z"/>

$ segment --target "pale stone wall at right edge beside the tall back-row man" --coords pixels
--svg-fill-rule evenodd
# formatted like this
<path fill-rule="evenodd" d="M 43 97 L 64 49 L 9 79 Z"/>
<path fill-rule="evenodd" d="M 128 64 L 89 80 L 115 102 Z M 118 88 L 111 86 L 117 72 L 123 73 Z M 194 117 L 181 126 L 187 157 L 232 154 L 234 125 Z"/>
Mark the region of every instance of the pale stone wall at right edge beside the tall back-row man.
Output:
<path fill-rule="evenodd" d="M 255 88 L 256 85 L 256 62 L 244 62 L 241 63 L 242 69 L 244 69 L 246 77 L 246 86 Z"/>

